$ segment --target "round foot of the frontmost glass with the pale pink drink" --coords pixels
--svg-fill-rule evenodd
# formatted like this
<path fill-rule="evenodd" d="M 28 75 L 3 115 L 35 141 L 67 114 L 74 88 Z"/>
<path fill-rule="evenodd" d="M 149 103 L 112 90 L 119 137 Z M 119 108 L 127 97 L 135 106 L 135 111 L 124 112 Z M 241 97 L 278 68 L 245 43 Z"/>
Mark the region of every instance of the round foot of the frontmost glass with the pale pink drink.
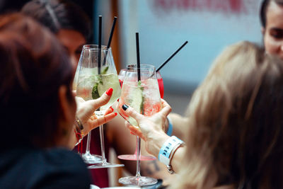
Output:
<path fill-rule="evenodd" d="M 154 185 L 157 183 L 157 179 L 147 176 L 127 176 L 120 178 L 119 183 L 123 185 Z"/>

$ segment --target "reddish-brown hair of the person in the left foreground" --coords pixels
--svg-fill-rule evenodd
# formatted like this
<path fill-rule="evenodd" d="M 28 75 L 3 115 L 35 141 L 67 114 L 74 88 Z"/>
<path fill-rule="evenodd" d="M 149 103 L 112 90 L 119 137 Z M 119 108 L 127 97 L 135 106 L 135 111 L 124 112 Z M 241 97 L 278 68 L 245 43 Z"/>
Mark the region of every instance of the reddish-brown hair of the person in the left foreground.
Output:
<path fill-rule="evenodd" d="M 0 120 L 5 147 L 50 147 L 58 132 L 59 86 L 74 68 L 50 30 L 20 13 L 0 17 Z M 72 102 L 74 103 L 74 102 Z"/>

